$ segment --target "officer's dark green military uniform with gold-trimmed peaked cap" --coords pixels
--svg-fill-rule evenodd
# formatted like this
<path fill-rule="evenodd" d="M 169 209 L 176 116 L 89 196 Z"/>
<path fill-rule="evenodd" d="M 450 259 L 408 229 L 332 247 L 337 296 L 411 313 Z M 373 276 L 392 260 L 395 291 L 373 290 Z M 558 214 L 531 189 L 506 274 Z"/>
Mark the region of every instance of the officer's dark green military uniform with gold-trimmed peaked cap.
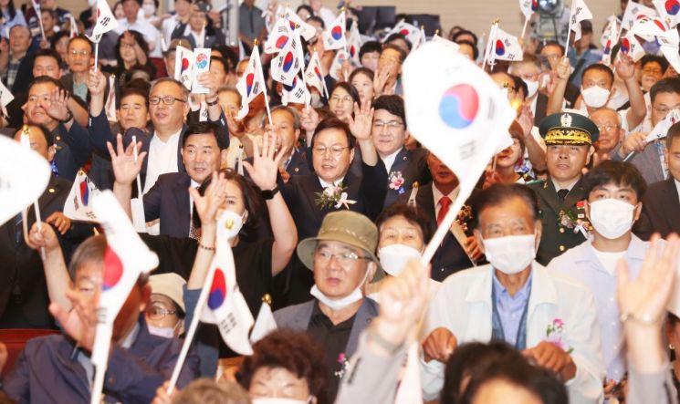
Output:
<path fill-rule="evenodd" d="M 600 137 L 597 126 L 577 113 L 557 113 L 543 119 L 539 127 L 546 145 L 589 145 Z M 575 180 L 575 179 L 574 179 Z M 583 179 L 580 178 L 560 201 L 555 183 L 546 181 L 528 183 L 539 196 L 539 207 L 543 231 L 540 237 L 536 261 L 547 265 L 550 260 L 572 247 L 583 243 L 590 224 L 585 215 L 585 200 L 588 198 Z"/>

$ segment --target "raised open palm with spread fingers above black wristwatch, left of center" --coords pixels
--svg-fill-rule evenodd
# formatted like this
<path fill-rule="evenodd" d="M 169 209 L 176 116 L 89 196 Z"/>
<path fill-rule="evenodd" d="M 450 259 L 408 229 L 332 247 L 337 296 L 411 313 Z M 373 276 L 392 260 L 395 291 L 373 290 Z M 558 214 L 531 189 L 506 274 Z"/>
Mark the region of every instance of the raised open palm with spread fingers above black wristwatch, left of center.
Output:
<path fill-rule="evenodd" d="M 267 130 L 262 137 L 262 154 L 260 154 L 257 142 L 253 142 L 253 164 L 247 161 L 243 166 L 248 171 L 248 175 L 262 191 L 274 189 L 277 185 L 278 166 L 283 159 L 285 150 L 277 150 L 277 134 L 272 130 Z"/>

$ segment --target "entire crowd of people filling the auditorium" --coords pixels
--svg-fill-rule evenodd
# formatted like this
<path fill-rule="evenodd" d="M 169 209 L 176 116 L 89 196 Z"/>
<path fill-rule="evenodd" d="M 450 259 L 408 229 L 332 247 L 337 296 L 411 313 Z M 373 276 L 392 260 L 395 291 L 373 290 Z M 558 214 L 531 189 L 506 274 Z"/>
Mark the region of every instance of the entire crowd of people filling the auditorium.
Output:
<path fill-rule="evenodd" d="M 359 5 L 345 3 L 350 36 Z M 74 16 L 55 0 L 0 0 L 14 97 L 0 93 L 0 132 L 52 171 L 39 210 L 0 226 L 0 328 L 52 330 L 6 366 L 0 341 L 0 402 L 90 399 L 110 247 L 98 223 L 65 213 L 72 190 L 84 205 L 110 190 L 131 221 L 143 213 L 159 258 L 116 317 L 102 401 L 678 402 L 680 122 L 654 131 L 680 118 L 680 78 L 654 36 L 638 38 L 641 58 L 617 45 L 603 59 L 586 20 L 566 46 L 527 36 L 520 60 L 486 63 L 517 112 L 511 144 L 423 264 L 461 187 L 409 131 L 402 66 L 422 44 L 362 36 L 339 63 L 324 36 L 340 10 L 309 0 L 294 12 L 315 29 L 300 41 L 322 87 L 288 102 L 263 52 L 267 91 L 247 102 L 249 55 L 288 18 L 275 1 L 239 6 L 237 47 L 209 0 L 174 0 L 169 15 L 119 1 L 96 59 L 90 5 Z M 486 59 L 463 26 L 435 35 Z M 204 47 L 196 94 L 176 57 Z M 225 217 L 238 289 L 253 317 L 269 295 L 277 329 L 243 357 L 201 324 L 169 394 Z"/>

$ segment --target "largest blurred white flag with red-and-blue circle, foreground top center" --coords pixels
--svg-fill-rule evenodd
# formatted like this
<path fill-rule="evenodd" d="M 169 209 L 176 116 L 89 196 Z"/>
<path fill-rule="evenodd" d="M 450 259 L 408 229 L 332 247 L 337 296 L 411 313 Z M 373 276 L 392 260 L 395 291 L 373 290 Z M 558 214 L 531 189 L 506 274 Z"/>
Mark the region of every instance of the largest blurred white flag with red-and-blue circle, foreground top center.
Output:
<path fill-rule="evenodd" d="M 515 110 L 481 68 L 436 42 L 406 59 L 403 90 L 409 131 L 454 171 L 466 200 Z"/>

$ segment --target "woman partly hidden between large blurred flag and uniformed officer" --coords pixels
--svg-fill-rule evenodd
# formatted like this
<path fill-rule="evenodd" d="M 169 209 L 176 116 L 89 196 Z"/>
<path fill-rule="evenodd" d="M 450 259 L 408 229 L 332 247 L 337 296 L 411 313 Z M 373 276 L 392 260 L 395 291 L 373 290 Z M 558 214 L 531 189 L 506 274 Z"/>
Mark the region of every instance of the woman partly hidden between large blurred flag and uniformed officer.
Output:
<path fill-rule="evenodd" d="M 485 189 L 495 183 L 513 184 L 526 181 L 525 176 L 518 172 L 524 163 L 525 147 L 522 127 L 517 121 L 513 121 L 508 131 L 512 138 L 512 145 L 496 155 L 495 164 L 492 164 L 495 170 L 486 170 L 483 187 Z"/>

